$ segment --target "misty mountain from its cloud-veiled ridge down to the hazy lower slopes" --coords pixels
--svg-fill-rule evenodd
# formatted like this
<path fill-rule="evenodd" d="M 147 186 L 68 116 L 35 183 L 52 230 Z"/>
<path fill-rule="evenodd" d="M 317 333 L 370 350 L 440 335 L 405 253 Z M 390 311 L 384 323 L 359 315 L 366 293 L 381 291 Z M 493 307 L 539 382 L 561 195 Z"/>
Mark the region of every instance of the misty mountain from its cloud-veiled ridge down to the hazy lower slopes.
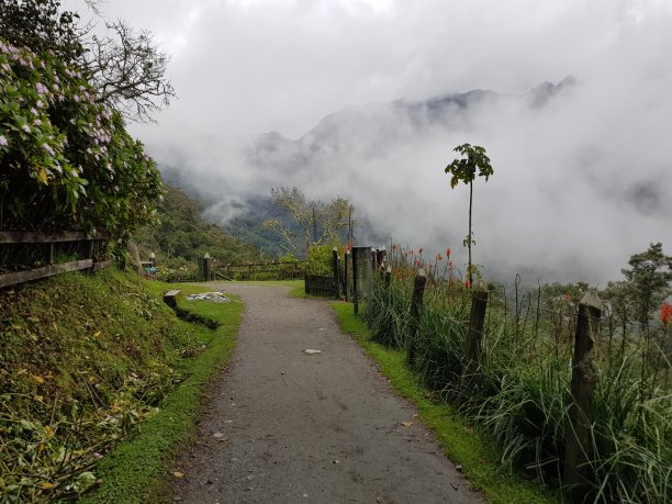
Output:
<path fill-rule="evenodd" d="M 444 134 L 464 128 L 474 111 L 506 103 L 530 110 L 544 108 L 573 86 L 574 78 L 567 77 L 557 85 L 542 82 L 523 96 L 478 89 L 421 101 L 399 99 L 351 105 L 325 116 L 298 139 L 287 138 L 279 132 L 260 134 L 240 148 L 240 168 L 261 173 L 247 194 L 237 187 L 222 191 L 227 183 L 224 180 L 203 183 L 177 165 L 165 165 L 160 169 L 168 183 L 203 203 L 206 221 L 258 246 L 266 255 L 281 256 L 284 251 L 280 239 L 261 224 L 268 219 L 288 223 L 291 216 L 273 204 L 268 195 L 271 187 L 296 186 L 307 198 L 328 200 L 343 195 L 352 200 L 351 192 L 338 193 L 336 187 L 341 188 L 343 183 L 331 183 L 336 172 L 348 183 L 357 183 L 357 170 L 367 161 L 384 158 L 389 152 L 403 146 L 422 144 L 436 132 Z M 396 229 L 381 228 L 367 202 L 355 199 L 352 203 L 359 222 L 357 242 L 374 246 L 388 243 Z"/>

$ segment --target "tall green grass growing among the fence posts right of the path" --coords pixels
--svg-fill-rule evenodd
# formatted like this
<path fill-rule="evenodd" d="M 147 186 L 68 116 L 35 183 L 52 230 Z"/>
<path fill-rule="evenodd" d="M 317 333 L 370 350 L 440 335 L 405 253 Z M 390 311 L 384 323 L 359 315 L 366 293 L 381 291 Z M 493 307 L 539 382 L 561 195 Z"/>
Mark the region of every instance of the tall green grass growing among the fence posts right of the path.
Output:
<path fill-rule="evenodd" d="M 392 256 L 390 287 L 376 284 L 368 299 L 372 338 L 404 346 L 402 321 L 408 317 L 413 278 L 423 267 L 429 278 L 412 371 L 496 441 L 503 466 L 562 486 L 576 300 L 587 285 L 564 293 L 553 287 L 546 295 L 539 289 L 536 299 L 520 294 L 517 283 L 508 298 L 503 288 L 491 288 L 478 379 L 463 384 L 470 285 L 457 281 L 449 268 L 440 275 L 437 262 L 408 257 Z M 628 326 L 618 335 L 608 310 L 602 324 L 586 448 L 591 481 L 582 497 L 574 492 L 572 500 L 672 502 L 668 325 L 663 320 L 662 325 Z"/>

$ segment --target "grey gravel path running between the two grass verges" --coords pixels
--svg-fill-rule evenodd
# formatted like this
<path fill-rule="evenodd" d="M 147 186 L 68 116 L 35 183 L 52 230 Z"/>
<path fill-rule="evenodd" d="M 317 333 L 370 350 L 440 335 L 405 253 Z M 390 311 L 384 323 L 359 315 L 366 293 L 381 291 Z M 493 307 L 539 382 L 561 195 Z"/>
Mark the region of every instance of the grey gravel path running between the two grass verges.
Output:
<path fill-rule="evenodd" d="M 483 502 L 326 302 L 282 287 L 212 288 L 246 309 L 199 440 L 176 461 L 177 502 Z"/>

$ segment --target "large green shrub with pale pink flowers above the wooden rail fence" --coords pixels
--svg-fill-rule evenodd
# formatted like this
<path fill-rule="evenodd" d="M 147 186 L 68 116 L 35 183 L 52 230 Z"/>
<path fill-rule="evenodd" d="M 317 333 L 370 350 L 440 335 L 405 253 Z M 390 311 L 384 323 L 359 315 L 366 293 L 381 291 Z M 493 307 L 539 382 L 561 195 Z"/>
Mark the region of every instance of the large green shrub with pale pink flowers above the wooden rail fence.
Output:
<path fill-rule="evenodd" d="M 154 161 L 85 75 L 0 38 L 0 228 L 125 234 L 161 197 Z"/>

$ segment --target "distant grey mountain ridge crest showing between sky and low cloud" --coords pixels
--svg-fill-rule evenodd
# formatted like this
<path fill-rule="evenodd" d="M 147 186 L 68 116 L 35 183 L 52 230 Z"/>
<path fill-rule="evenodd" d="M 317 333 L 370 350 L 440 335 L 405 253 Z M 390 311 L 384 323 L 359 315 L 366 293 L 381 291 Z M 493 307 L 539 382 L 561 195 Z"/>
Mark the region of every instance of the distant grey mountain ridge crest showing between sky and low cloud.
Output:
<path fill-rule="evenodd" d="M 295 176 L 340 156 L 376 158 L 391 146 L 422 138 L 429 130 L 457 128 L 475 109 L 503 102 L 541 108 L 575 83 L 570 76 L 557 85 L 542 82 L 523 96 L 477 89 L 422 101 L 399 99 L 352 105 L 327 115 L 298 139 L 287 138 L 279 132 L 257 136 L 244 148 L 245 163 Z"/>

